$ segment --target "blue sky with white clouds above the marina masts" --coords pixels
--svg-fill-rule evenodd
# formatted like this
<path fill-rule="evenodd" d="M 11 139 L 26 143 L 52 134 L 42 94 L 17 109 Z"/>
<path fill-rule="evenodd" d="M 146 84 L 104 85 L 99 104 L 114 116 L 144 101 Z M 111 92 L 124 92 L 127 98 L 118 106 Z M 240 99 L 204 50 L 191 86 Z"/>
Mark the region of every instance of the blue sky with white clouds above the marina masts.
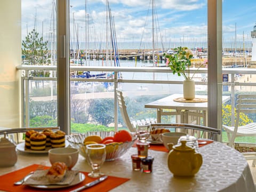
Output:
<path fill-rule="evenodd" d="M 109 0 L 118 42 L 151 41 L 151 1 Z M 76 27 L 78 25 L 80 41 L 84 41 L 86 37 L 85 2 L 89 14 L 91 41 L 96 39 L 105 41 L 106 0 L 70 0 L 71 37 L 74 37 L 73 15 Z M 21 3 L 22 37 L 26 36 L 27 29 L 30 31 L 34 28 L 35 15 L 39 33 L 44 31 L 44 36 L 49 34 L 52 0 L 22 0 Z M 245 41 L 250 42 L 250 34 L 256 22 L 256 2 L 254 0 L 223 0 L 222 3 L 223 41 L 234 41 L 236 25 L 237 41 L 243 41 L 244 37 Z M 207 0 L 155 0 L 155 6 L 157 11 L 155 40 L 161 41 L 161 37 L 164 42 L 207 40 Z"/>

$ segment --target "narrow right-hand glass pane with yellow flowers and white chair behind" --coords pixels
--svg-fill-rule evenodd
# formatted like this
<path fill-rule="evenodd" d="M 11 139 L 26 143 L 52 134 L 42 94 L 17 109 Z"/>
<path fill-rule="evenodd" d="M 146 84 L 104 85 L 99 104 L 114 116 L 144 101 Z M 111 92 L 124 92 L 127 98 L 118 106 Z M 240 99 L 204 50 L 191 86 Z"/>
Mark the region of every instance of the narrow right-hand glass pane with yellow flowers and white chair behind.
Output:
<path fill-rule="evenodd" d="M 223 95 L 230 96 L 230 101 L 222 104 L 223 125 L 235 126 L 235 122 L 238 121 L 236 117 L 238 94 L 255 94 L 256 50 L 253 50 L 255 49 L 255 36 L 253 35 L 256 34 L 256 28 L 252 17 L 255 13 L 251 6 L 254 6 L 251 1 L 222 2 Z M 243 14 L 241 10 L 246 14 Z M 254 114 L 242 113 L 239 116 L 239 126 L 254 121 Z M 229 142 L 225 129 L 222 132 L 222 140 Z M 255 137 L 237 137 L 235 143 L 237 143 L 236 148 L 240 146 L 239 151 L 245 152 L 245 150 L 251 150 L 253 145 L 250 144 L 255 144 L 256 140 Z"/>

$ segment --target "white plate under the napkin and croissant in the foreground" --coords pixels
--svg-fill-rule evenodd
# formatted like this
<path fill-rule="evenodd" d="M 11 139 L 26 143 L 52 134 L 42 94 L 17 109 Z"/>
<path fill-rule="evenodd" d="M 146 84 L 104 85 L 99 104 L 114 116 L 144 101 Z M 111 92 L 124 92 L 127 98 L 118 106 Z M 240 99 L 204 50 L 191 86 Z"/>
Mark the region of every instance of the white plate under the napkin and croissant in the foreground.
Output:
<path fill-rule="evenodd" d="M 69 185 L 28 185 L 28 186 L 41 188 L 41 189 L 58 189 L 58 188 L 65 188 L 65 187 L 71 187 L 71 186 L 77 185 L 81 183 L 84 179 L 85 179 L 85 175 L 79 172 Z"/>

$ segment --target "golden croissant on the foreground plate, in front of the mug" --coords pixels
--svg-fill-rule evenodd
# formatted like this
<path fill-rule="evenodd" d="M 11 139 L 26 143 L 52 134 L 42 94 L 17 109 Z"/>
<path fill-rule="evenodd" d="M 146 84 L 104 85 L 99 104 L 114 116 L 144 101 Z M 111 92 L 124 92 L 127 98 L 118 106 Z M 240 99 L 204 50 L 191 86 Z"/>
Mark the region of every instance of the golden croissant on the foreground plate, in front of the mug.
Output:
<path fill-rule="evenodd" d="M 63 162 L 55 162 L 46 173 L 49 182 L 60 182 L 67 172 L 67 165 Z"/>

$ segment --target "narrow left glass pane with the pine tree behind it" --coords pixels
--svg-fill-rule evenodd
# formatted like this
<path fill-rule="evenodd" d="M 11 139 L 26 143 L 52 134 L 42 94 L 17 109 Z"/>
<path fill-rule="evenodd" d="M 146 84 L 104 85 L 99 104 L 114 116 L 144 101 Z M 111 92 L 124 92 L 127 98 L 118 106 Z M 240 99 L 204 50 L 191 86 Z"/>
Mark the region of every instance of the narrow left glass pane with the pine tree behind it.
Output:
<path fill-rule="evenodd" d="M 23 126 L 57 126 L 56 4 L 21 1 Z M 42 67 L 45 66 L 45 67 Z"/>

